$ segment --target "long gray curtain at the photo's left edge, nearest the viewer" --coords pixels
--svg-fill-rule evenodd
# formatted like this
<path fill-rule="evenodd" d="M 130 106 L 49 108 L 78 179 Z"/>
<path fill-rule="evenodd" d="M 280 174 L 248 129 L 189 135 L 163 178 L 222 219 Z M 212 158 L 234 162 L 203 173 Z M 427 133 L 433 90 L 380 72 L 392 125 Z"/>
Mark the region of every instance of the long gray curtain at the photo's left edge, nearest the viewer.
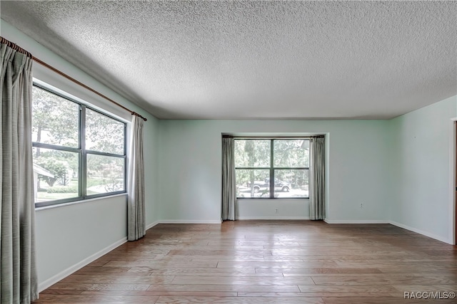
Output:
<path fill-rule="evenodd" d="M 12 45 L 12 46 L 11 46 Z M 14 44 L 1 52 L 1 303 L 38 298 L 31 150 L 32 58 Z"/>

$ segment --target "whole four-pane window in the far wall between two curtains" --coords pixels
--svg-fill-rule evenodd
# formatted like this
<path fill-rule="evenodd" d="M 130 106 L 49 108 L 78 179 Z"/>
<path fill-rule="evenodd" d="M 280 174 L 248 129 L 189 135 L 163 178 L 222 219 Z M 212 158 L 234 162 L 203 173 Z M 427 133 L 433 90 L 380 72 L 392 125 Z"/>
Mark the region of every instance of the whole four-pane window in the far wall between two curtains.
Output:
<path fill-rule="evenodd" d="M 238 199 L 308 199 L 307 138 L 235 138 Z"/>

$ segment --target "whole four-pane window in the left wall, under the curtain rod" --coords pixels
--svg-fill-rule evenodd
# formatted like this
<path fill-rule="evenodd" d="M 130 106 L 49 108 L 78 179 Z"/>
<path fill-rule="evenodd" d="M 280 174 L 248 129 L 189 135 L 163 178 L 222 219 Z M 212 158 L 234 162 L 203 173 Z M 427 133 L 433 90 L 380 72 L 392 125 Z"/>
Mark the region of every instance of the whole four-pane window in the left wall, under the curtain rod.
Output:
<path fill-rule="evenodd" d="M 34 85 L 35 205 L 126 192 L 126 124 Z"/>

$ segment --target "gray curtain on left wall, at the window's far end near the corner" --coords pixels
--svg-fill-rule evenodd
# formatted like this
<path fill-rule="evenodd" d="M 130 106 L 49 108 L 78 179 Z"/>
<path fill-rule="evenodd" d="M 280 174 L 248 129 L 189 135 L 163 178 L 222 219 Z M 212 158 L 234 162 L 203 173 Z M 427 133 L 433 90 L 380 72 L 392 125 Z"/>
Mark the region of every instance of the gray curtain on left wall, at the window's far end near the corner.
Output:
<path fill-rule="evenodd" d="M 127 230 L 129 241 L 146 234 L 144 217 L 143 118 L 133 115 L 129 161 L 129 199 Z"/>

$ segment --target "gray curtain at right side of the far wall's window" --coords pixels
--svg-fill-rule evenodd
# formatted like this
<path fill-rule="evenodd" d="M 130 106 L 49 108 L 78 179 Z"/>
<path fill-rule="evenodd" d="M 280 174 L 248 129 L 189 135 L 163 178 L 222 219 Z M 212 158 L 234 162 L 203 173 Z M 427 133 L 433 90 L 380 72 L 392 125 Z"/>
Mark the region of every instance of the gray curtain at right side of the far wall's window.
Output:
<path fill-rule="evenodd" d="M 324 219 L 325 212 L 325 138 L 311 138 L 311 169 L 310 169 L 310 199 L 309 218 L 313 220 Z"/>

